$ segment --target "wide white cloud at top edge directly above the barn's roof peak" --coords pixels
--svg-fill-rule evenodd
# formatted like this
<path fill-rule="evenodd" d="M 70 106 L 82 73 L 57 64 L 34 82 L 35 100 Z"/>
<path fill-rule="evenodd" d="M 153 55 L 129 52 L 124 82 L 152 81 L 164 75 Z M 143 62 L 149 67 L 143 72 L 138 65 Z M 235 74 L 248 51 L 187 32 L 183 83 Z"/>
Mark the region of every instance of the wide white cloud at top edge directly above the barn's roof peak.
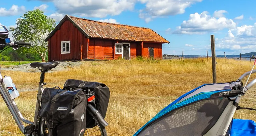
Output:
<path fill-rule="evenodd" d="M 106 17 L 133 10 L 137 0 L 53 0 L 59 14 Z"/>

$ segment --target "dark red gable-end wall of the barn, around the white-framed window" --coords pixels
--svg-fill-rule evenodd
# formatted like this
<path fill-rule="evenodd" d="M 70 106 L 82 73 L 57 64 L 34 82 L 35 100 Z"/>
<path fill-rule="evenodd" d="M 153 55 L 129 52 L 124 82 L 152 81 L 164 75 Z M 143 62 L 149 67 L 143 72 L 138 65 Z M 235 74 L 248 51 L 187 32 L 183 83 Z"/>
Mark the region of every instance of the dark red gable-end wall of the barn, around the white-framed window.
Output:
<path fill-rule="evenodd" d="M 69 40 L 70 53 L 61 54 L 61 41 Z M 87 58 L 87 38 L 69 20 L 63 22 L 48 41 L 48 61 L 80 60 L 81 45 L 83 45 L 82 57 Z"/>

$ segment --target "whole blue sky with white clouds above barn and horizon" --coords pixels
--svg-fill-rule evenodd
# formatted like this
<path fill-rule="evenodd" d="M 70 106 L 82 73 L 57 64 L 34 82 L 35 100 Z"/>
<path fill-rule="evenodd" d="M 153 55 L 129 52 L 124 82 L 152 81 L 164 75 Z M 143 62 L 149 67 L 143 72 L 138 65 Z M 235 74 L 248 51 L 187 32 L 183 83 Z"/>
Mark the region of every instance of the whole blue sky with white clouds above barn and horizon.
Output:
<path fill-rule="evenodd" d="M 39 8 L 57 22 L 67 14 L 151 28 L 170 41 L 163 54 L 210 54 L 212 34 L 216 55 L 240 54 L 256 52 L 255 5 L 255 0 L 1 0 L 0 24 L 15 27 L 17 18 Z"/>

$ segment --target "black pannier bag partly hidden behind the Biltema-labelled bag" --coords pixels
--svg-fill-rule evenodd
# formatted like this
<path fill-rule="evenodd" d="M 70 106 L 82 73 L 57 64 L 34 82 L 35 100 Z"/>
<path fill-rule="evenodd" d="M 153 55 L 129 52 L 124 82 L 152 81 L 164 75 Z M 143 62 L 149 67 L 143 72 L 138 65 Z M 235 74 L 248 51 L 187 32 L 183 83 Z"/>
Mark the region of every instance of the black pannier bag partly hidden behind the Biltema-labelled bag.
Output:
<path fill-rule="evenodd" d="M 110 90 L 109 87 L 103 83 L 98 82 L 87 82 L 81 80 L 68 79 L 64 88 L 82 88 L 83 90 L 90 89 L 95 92 L 95 104 L 96 109 L 99 111 L 103 118 L 106 117 L 106 112 L 109 105 Z M 86 115 L 86 128 L 93 128 L 97 126 L 95 120 L 91 117 L 89 113 Z"/>

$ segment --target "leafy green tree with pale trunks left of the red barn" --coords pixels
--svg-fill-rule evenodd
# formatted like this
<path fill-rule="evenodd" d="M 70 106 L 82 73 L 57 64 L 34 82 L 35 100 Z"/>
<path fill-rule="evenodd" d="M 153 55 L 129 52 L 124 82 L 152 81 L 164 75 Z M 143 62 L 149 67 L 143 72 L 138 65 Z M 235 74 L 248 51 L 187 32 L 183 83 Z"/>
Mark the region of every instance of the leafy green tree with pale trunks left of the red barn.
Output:
<path fill-rule="evenodd" d="M 31 48 L 19 49 L 19 53 L 34 55 L 38 54 L 44 62 L 48 51 L 48 42 L 45 38 L 53 31 L 56 21 L 44 15 L 44 12 L 36 9 L 28 11 L 18 18 L 16 28 L 10 28 L 14 41 L 31 42 Z"/>

